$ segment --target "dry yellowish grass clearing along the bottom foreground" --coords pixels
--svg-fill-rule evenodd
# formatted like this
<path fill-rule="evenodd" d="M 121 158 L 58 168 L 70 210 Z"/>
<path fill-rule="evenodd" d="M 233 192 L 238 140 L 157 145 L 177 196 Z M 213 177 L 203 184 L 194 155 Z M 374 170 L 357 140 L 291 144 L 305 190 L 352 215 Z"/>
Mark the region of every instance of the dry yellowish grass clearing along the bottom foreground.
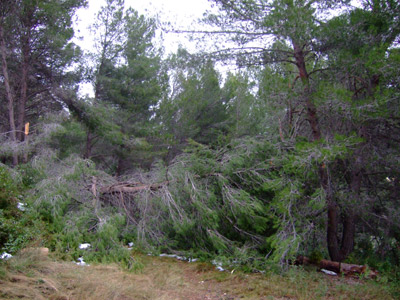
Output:
<path fill-rule="evenodd" d="M 136 272 L 116 265 L 78 266 L 24 253 L 0 264 L 0 299 L 394 299 L 372 280 L 294 268 L 278 274 L 220 272 L 208 263 L 137 254 Z"/>

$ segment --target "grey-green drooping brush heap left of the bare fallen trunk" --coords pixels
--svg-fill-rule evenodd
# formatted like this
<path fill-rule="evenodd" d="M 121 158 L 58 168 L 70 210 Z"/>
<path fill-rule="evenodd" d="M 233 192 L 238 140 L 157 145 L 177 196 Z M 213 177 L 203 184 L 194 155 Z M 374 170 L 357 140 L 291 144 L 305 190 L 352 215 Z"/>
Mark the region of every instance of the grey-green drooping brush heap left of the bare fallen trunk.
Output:
<path fill-rule="evenodd" d="M 140 269 L 130 251 L 123 247 L 125 217 L 110 206 L 101 205 L 93 195 L 93 177 L 99 186 L 110 176 L 96 170 L 90 160 L 70 156 L 59 160 L 56 153 L 46 150 L 32 160 L 30 174 L 37 175 L 32 183 L 28 202 L 35 218 L 46 224 L 46 246 L 64 259 L 86 262 L 118 262 L 127 269 Z M 88 250 L 79 249 L 90 243 Z"/>

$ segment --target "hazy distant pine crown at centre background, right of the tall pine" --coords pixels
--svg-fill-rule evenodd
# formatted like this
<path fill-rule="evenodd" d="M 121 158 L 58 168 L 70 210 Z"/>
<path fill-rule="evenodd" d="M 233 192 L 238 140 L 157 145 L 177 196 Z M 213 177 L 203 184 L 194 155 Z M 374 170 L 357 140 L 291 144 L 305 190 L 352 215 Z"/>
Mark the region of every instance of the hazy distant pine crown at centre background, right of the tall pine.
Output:
<path fill-rule="evenodd" d="M 193 139 L 203 144 L 217 144 L 227 131 L 226 103 L 220 88 L 220 74 L 212 61 L 193 67 L 185 61 L 182 49 L 171 57 L 174 93 L 160 104 L 160 119 L 165 129 L 172 132 L 175 143 Z M 181 65 L 182 61 L 186 65 Z"/>

